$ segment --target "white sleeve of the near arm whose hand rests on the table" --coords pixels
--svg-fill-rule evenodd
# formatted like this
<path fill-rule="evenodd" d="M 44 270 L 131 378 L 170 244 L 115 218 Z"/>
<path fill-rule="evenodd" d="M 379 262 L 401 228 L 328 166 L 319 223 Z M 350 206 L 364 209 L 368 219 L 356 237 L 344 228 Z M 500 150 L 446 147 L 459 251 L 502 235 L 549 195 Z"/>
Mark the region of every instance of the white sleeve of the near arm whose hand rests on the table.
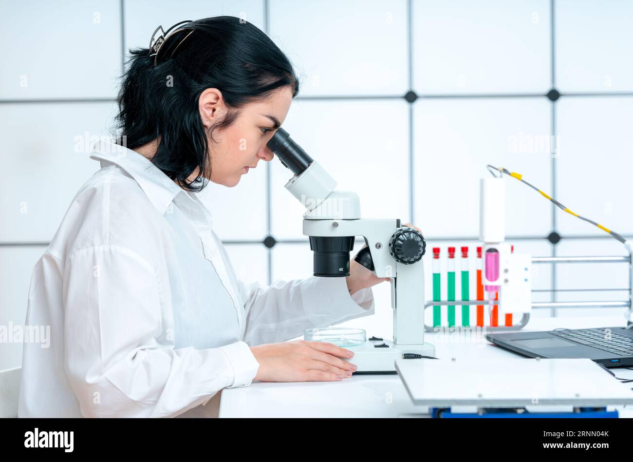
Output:
<path fill-rule="evenodd" d="M 64 367 L 84 416 L 175 416 L 256 375 L 244 342 L 174 349 L 165 286 L 131 250 L 79 250 L 64 273 Z"/>

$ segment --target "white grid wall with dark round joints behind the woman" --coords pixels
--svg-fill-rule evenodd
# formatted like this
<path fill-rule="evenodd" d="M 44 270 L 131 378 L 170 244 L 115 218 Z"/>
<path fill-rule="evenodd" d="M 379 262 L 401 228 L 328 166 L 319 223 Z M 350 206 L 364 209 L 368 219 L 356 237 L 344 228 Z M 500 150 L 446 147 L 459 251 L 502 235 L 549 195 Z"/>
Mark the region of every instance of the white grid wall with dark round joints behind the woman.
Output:
<path fill-rule="evenodd" d="M 429 248 L 473 254 L 478 181 L 492 164 L 633 236 L 633 2 L 1 0 L 0 10 L 0 324 L 23 323 L 32 267 L 98 169 L 89 146 L 110 133 L 125 51 L 147 47 L 158 25 L 206 16 L 248 20 L 287 53 L 302 86 L 284 128 L 358 193 L 363 215 L 413 222 Z M 202 194 L 242 278 L 311 274 L 290 176 L 273 160 Z M 624 255 L 511 181 L 508 240 L 538 256 Z M 430 297 L 430 251 L 425 265 Z M 540 267 L 535 287 L 628 286 L 624 267 L 596 269 Z M 375 295 L 377 314 L 352 322 L 388 337 L 389 287 Z M 20 361 L 20 345 L 0 345 L 0 369 Z"/>

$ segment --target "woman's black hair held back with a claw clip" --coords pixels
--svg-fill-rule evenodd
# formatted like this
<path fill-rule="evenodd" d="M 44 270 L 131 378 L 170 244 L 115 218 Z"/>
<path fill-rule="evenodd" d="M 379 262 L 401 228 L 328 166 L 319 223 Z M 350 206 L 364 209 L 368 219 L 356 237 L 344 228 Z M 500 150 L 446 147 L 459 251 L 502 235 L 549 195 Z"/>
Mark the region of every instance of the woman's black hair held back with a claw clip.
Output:
<path fill-rule="evenodd" d="M 284 53 L 251 23 L 215 16 L 176 30 L 167 34 L 156 63 L 149 48 L 130 49 L 118 94 L 118 136 L 125 136 L 119 142 L 130 149 L 160 137 L 154 165 L 182 188 L 200 191 L 210 176 L 207 132 L 198 109 L 204 89 L 220 90 L 230 108 L 210 128 L 213 139 L 213 131 L 232 124 L 246 103 L 283 86 L 291 87 L 294 98 L 299 82 Z M 196 179 L 189 181 L 196 169 Z"/>

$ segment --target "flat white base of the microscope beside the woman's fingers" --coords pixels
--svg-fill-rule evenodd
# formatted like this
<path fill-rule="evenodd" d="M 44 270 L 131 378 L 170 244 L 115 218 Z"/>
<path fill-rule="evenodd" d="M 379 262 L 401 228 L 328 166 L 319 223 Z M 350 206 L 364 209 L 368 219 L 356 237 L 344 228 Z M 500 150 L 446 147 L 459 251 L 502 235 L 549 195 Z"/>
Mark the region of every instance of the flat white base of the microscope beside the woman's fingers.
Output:
<path fill-rule="evenodd" d="M 388 345 L 388 347 L 376 346 L 382 344 Z M 422 345 L 397 345 L 391 340 L 367 340 L 367 342 L 358 347 L 345 348 L 354 352 L 354 356 L 350 359 L 346 359 L 346 361 L 358 366 L 355 374 L 396 373 L 396 359 L 402 359 L 404 353 L 435 356 L 435 347 L 430 343 L 422 343 Z M 412 359 L 411 361 L 416 360 Z"/>

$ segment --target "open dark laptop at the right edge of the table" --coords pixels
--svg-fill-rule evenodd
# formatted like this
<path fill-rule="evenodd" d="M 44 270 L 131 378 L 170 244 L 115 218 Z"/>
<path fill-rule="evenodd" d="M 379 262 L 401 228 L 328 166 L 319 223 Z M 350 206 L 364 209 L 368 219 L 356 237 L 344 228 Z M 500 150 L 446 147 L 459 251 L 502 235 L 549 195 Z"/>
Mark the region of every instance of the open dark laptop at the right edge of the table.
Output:
<path fill-rule="evenodd" d="M 629 327 L 490 333 L 486 339 L 527 357 L 589 358 L 616 368 L 633 366 L 633 324 Z"/>

